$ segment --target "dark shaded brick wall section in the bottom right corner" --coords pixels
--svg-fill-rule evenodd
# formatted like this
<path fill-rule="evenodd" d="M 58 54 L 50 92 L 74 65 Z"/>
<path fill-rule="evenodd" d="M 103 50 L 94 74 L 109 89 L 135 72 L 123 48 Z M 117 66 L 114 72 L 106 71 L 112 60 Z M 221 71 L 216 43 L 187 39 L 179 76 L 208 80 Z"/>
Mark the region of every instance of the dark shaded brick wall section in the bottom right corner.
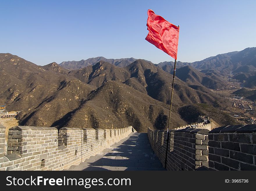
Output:
<path fill-rule="evenodd" d="M 256 170 L 256 125 L 232 125 L 209 132 L 209 169 Z"/>

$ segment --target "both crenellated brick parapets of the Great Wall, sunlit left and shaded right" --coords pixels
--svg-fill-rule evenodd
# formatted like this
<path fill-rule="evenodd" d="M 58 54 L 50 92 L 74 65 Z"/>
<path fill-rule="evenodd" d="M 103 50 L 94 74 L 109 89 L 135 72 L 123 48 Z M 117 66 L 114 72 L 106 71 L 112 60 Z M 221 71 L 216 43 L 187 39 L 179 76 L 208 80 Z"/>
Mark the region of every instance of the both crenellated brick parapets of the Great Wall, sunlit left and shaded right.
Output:
<path fill-rule="evenodd" d="M 256 170 L 256 125 L 211 130 L 216 122 L 210 119 L 205 124 L 204 118 L 169 132 L 148 128 L 151 147 L 163 167 L 166 163 L 167 170 Z M 0 127 L 0 170 L 67 169 L 132 132 L 136 132 L 132 126 L 104 130 L 15 126 L 6 138 Z"/>

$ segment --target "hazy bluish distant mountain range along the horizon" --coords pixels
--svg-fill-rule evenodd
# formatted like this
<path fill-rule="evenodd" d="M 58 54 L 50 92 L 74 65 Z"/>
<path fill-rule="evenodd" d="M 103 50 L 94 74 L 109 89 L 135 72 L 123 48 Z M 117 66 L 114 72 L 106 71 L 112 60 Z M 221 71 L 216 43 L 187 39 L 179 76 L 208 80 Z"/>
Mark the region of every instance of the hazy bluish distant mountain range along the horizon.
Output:
<path fill-rule="evenodd" d="M 90 65 L 95 65 L 100 60 L 111 63 L 118 67 L 126 67 L 137 59 L 106 59 L 104 57 L 96 57 L 80 61 L 64 61 L 60 64 L 60 66 L 67 70 L 77 70 Z M 148 60 L 145 61 L 152 63 Z M 155 66 L 163 69 L 167 73 L 173 74 L 174 62 L 172 61 L 161 62 L 155 64 Z M 193 63 L 177 61 L 177 69 L 184 66 L 188 67 L 179 71 L 185 73 L 177 73 L 177 76 L 185 82 L 195 83 L 196 81 L 207 88 L 219 89 L 225 86 L 223 76 L 233 73 L 235 75 L 233 79 L 238 79 L 239 82 L 243 83 L 244 87 L 252 88 L 256 86 L 256 47 L 246 48 L 242 51 L 218 54 L 216 56 L 211 56 L 204 60 Z M 193 77 L 191 77 L 192 73 L 196 73 L 196 76 L 192 75 Z M 182 77 L 181 75 L 188 77 Z"/>

